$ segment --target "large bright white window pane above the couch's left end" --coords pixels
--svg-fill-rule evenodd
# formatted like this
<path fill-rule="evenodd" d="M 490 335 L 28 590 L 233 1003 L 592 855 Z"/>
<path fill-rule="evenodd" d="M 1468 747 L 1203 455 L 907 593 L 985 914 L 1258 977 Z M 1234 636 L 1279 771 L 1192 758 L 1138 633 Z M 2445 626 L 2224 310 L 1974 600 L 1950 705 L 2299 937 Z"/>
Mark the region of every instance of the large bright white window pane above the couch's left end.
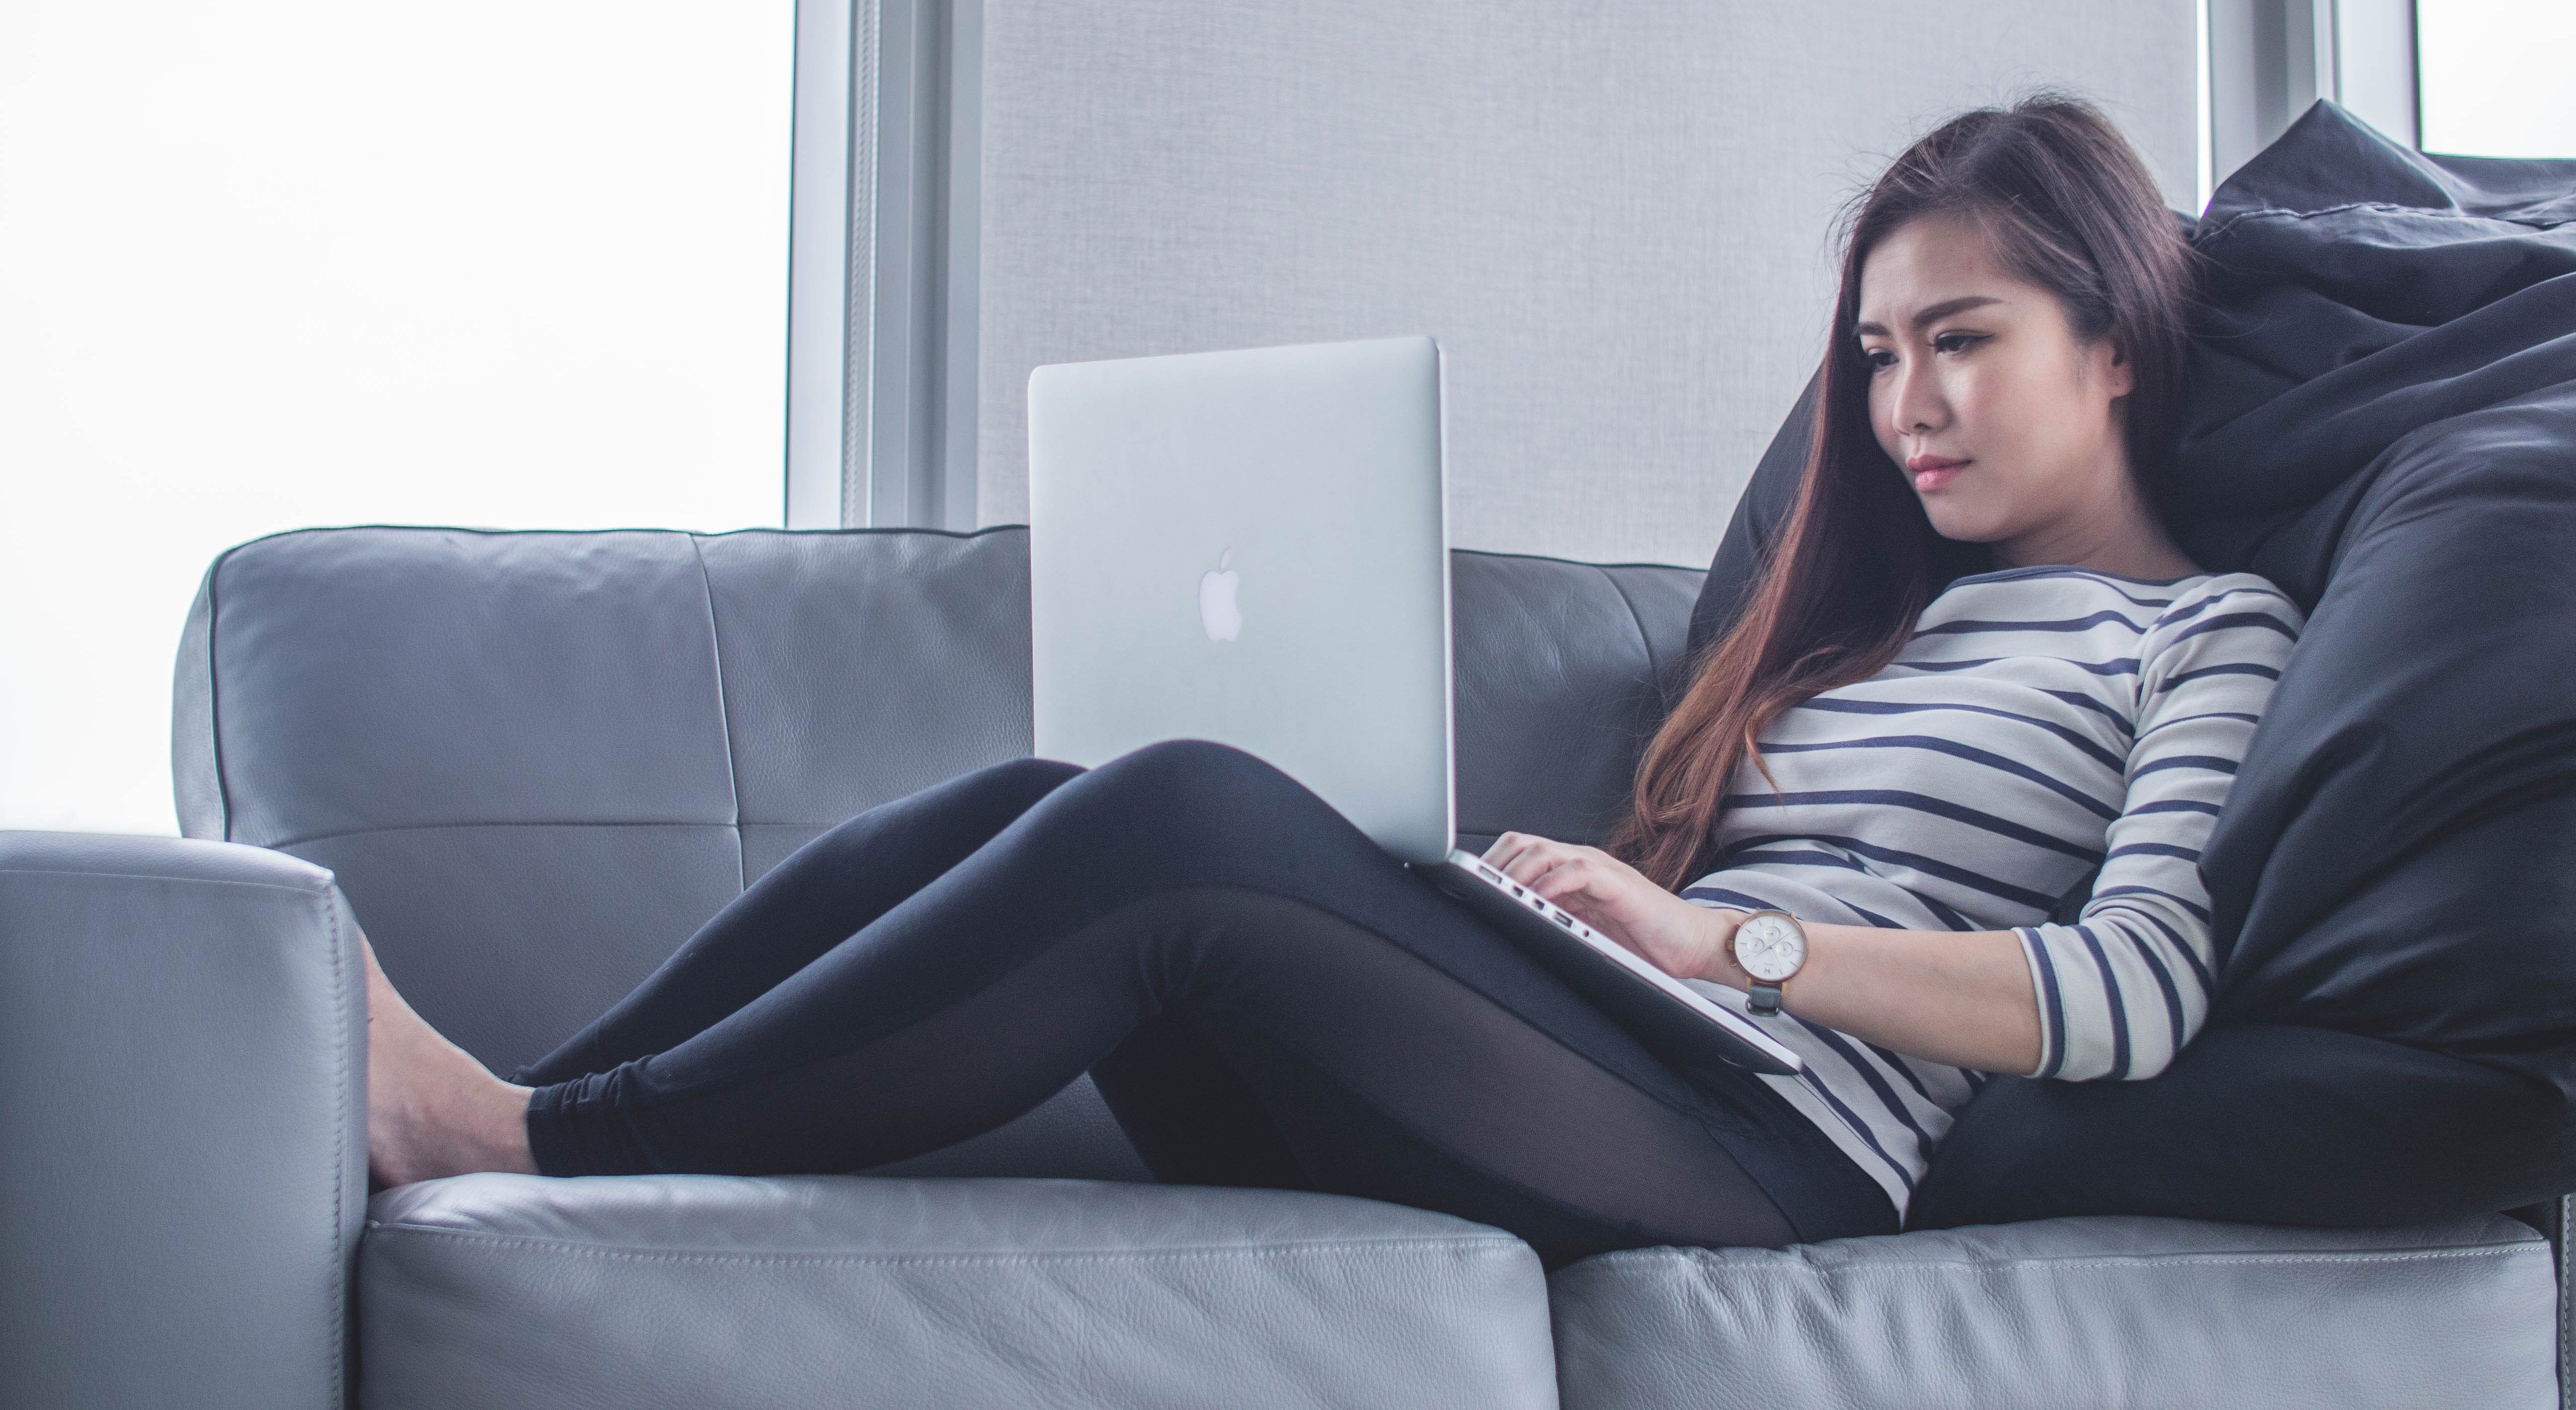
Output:
<path fill-rule="evenodd" d="M 175 833 L 229 544 L 781 521 L 793 26 L 0 5 L 0 827 Z"/>

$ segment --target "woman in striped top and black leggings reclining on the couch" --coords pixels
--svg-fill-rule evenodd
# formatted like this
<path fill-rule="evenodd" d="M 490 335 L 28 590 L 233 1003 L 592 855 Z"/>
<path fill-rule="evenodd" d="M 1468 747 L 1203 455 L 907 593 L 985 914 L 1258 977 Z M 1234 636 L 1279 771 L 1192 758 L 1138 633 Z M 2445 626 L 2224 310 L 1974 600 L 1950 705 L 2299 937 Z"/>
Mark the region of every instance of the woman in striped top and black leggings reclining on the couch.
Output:
<path fill-rule="evenodd" d="M 1850 222 L 1798 505 L 1615 845 L 1486 853 L 1801 1077 L 1664 1067 L 1275 768 L 1175 742 L 824 833 L 510 1083 L 371 954 L 374 1170 L 863 1170 L 1090 1070 L 1164 1181 L 1551 1263 L 1893 1232 L 1986 1072 L 2148 1077 L 2208 1013 L 2200 845 L 2300 616 L 2159 518 L 2190 294 L 2092 108 L 1906 150 Z M 1947 580 L 1958 546 L 1991 570 Z"/>

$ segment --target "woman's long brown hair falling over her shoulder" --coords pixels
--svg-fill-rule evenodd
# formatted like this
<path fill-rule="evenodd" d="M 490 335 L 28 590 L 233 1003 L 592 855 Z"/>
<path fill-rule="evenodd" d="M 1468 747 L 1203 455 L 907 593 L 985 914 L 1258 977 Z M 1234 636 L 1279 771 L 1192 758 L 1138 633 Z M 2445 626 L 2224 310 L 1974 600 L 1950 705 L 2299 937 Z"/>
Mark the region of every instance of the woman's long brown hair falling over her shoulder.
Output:
<path fill-rule="evenodd" d="M 1914 637 L 1955 572 L 1955 546 L 1870 430 L 1870 366 L 1852 335 L 1870 247 L 1922 217 L 1963 217 L 2012 276 L 2053 291 L 2076 338 L 2130 363 L 2120 410 L 2130 472 L 2161 503 L 2182 410 L 2192 253 L 2146 165 L 2097 108 L 2038 93 L 1976 108 L 1909 147 L 1844 214 L 1842 294 L 1816 376 L 1816 436 L 1798 503 L 1772 536 L 1734 629 L 1646 745 L 1636 804 L 1610 845 L 1662 887 L 1713 861 L 1726 789 L 1783 711 L 1868 681 Z"/>

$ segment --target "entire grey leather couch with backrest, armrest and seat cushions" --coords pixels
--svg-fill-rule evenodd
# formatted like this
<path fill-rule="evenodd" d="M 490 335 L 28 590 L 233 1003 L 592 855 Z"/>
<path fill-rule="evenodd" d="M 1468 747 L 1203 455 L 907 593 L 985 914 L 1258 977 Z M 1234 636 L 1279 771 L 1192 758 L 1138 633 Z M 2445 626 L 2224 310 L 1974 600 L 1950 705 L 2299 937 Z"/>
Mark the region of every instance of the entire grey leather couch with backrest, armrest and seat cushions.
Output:
<path fill-rule="evenodd" d="M 1695 588 L 1458 554 L 1466 833 L 1600 833 Z M 866 1175 L 368 1201 L 353 920 L 507 1070 L 817 830 L 1025 750 L 1020 531 L 234 549 L 178 662 L 191 840 L 0 835 L 0 1405 L 2558 1402 L 2555 1242 L 2501 1214 L 1551 1279 L 1440 1214 L 1154 1186 L 1087 1083 Z"/>

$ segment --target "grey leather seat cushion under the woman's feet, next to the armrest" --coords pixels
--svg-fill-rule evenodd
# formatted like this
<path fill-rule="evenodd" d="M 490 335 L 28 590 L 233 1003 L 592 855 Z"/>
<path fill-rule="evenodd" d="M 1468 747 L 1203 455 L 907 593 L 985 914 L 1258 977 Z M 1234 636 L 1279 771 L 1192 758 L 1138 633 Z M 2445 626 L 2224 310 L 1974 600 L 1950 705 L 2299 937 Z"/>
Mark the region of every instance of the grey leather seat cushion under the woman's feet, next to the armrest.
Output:
<path fill-rule="evenodd" d="M 1528 1245 L 1314 1193 L 466 1175 L 358 1281 L 371 1410 L 1556 1402 Z"/>

